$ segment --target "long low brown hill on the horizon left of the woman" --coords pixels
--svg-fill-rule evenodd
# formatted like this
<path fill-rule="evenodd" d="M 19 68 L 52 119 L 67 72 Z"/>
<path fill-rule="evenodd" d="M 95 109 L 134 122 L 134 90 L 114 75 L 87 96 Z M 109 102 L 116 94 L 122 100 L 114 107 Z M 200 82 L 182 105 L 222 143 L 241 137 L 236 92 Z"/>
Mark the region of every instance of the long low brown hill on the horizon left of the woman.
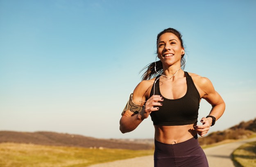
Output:
<path fill-rule="evenodd" d="M 13 132 L 0 131 L 0 143 L 33 143 L 39 145 L 104 147 L 118 149 L 152 149 L 150 144 L 138 144 L 119 140 L 97 139 L 76 134 L 55 132 Z"/>

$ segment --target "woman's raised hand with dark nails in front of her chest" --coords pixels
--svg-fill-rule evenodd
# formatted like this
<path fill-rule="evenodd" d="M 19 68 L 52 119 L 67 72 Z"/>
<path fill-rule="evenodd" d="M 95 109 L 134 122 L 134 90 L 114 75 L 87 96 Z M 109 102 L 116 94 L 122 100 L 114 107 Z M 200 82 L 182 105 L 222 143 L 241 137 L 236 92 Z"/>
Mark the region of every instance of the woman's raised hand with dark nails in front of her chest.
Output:
<path fill-rule="evenodd" d="M 151 112 L 159 110 L 159 107 L 157 106 L 163 105 L 161 101 L 163 101 L 163 97 L 160 95 L 153 95 L 149 99 L 147 99 L 142 111 L 140 112 L 141 119 L 146 119 Z"/>

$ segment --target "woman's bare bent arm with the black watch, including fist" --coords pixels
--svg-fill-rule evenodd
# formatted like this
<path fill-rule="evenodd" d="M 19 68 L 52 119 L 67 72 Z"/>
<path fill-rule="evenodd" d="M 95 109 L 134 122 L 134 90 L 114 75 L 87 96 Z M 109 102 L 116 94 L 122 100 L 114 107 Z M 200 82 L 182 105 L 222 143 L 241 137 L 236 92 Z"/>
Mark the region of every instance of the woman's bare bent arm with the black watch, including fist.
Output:
<path fill-rule="evenodd" d="M 197 80 L 197 84 L 203 92 L 202 98 L 212 105 L 211 112 L 208 115 L 214 116 L 217 121 L 225 110 L 225 103 L 222 97 L 215 91 L 213 84 L 208 78 L 200 77 L 200 79 Z M 195 129 L 200 136 L 204 136 L 210 129 L 213 119 L 211 117 L 203 117 L 200 122 L 202 125 L 196 125 Z"/>

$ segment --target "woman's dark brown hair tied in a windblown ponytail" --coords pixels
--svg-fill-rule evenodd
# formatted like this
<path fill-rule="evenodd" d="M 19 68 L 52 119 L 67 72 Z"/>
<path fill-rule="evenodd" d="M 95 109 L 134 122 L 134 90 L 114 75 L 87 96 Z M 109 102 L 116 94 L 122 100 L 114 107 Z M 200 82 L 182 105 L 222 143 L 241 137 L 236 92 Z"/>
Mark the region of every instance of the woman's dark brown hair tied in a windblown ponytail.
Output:
<path fill-rule="evenodd" d="M 183 41 L 181 39 L 181 37 L 182 37 L 181 33 L 179 31 L 177 31 L 176 29 L 172 29 L 172 28 L 165 29 L 157 35 L 157 37 L 156 37 L 156 48 L 158 48 L 157 47 L 157 42 L 159 40 L 159 37 L 161 35 L 163 35 L 164 33 L 173 33 L 174 35 L 176 35 L 179 38 L 179 41 L 181 42 L 181 47 L 184 48 Z M 157 50 L 156 50 L 156 55 L 157 55 Z M 184 64 L 185 64 L 185 59 L 184 59 L 184 54 L 183 54 L 183 55 L 181 55 L 181 66 L 182 66 L 181 69 L 182 70 L 184 70 L 184 68 L 185 68 Z M 145 71 L 145 73 L 143 73 L 143 75 L 142 75 L 142 80 L 151 79 L 151 78 L 154 78 L 158 75 L 155 71 L 155 66 L 156 66 L 156 71 L 158 73 L 163 73 L 163 64 L 159 60 L 159 61 L 156 62 L 156 64 L 155 64 L 155 62 L 150 63 L 147 66 L 145 66 L 142 70 L 140 70 L 140 72 L 142 72 L 143 70 L 147 69 Z"/>

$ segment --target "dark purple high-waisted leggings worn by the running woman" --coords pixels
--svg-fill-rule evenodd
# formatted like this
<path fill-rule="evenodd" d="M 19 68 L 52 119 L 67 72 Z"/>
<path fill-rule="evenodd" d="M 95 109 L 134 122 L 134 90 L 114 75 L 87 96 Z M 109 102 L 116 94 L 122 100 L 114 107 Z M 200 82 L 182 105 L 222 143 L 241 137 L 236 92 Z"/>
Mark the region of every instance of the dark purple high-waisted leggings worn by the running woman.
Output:
<path fill-rule="evenodd" d="M 155 140 L 154 167 L 209 167 L 197 136 L 177 144 Z"/>

